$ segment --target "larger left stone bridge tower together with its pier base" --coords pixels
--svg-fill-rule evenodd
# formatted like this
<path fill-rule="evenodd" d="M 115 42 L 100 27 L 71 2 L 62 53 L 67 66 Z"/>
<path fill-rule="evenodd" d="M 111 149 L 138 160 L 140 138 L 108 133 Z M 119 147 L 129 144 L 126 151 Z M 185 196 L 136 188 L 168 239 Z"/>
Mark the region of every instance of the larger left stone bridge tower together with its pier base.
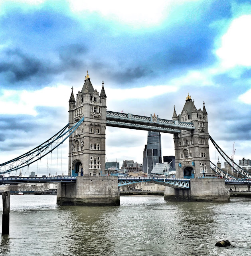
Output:
<path fill-rule="evenodd" d="M 84 206 L 119 205 L 118 177 L 105 174 L 106 95 L 104 82 L 99 94 L 87 71 L 75 100 L 69 100 L 69 129 L 82 117 L 84 122 L 69 137 L 69 176 L 75 184 L 59 183 L 57 204 Z"/>

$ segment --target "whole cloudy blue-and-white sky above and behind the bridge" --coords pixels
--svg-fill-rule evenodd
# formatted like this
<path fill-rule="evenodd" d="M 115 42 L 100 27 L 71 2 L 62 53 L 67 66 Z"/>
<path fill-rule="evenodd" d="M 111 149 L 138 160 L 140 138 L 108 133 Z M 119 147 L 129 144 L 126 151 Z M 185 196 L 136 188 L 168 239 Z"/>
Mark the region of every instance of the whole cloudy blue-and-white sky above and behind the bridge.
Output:
<path fill-rule="evenodd" d="M 67 124 L 71 86 L 76 95 L 86 70 L 117 112 L 172 119 L 189 92 L 196 108 L 205 101 L 217 144 L 251 158 L 250 27 L 245 0 L 0 0 L 0 162 Z M 146 139 L 108 127 L 107 159 L 142 163 Z M 162 134 L 162 155 L 173 154 Z M 63 155 L 67 170 L 67 145 Z"/>

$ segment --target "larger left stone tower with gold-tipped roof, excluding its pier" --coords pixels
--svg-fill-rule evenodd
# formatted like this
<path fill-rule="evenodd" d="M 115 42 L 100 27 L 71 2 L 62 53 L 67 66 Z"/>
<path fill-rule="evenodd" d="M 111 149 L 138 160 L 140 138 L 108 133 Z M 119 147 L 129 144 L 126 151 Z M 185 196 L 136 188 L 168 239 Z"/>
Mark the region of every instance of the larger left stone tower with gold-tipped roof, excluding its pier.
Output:
<path fill-rule="evenodd" d="M 105 171 L 106 95 L 104 82 L 100 94 L 94 90 L 87 71 L 75 101 L 73 88 L 69 100 L 69 128 L 82 117 L 84 122 L 69 137 L 69 176 L 99 176 Z"/>

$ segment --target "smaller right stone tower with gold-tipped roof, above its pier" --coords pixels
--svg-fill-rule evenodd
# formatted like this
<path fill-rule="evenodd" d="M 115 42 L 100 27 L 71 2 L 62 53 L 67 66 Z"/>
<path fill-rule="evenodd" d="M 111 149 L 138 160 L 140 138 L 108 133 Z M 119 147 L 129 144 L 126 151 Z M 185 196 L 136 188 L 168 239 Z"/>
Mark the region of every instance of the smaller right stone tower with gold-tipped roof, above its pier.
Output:
<path fill-rule="evenodd" d="M 209 162 L 208 113 L 205 103 L 203 110 L 197 109 L 194 100 L 186 97 L 184 108 L 177 116 L 175 106 L 172 119 L 192 122 L 195 130 L 174 134 L 175 166 L 177 178 L 212 177 Z"/>

